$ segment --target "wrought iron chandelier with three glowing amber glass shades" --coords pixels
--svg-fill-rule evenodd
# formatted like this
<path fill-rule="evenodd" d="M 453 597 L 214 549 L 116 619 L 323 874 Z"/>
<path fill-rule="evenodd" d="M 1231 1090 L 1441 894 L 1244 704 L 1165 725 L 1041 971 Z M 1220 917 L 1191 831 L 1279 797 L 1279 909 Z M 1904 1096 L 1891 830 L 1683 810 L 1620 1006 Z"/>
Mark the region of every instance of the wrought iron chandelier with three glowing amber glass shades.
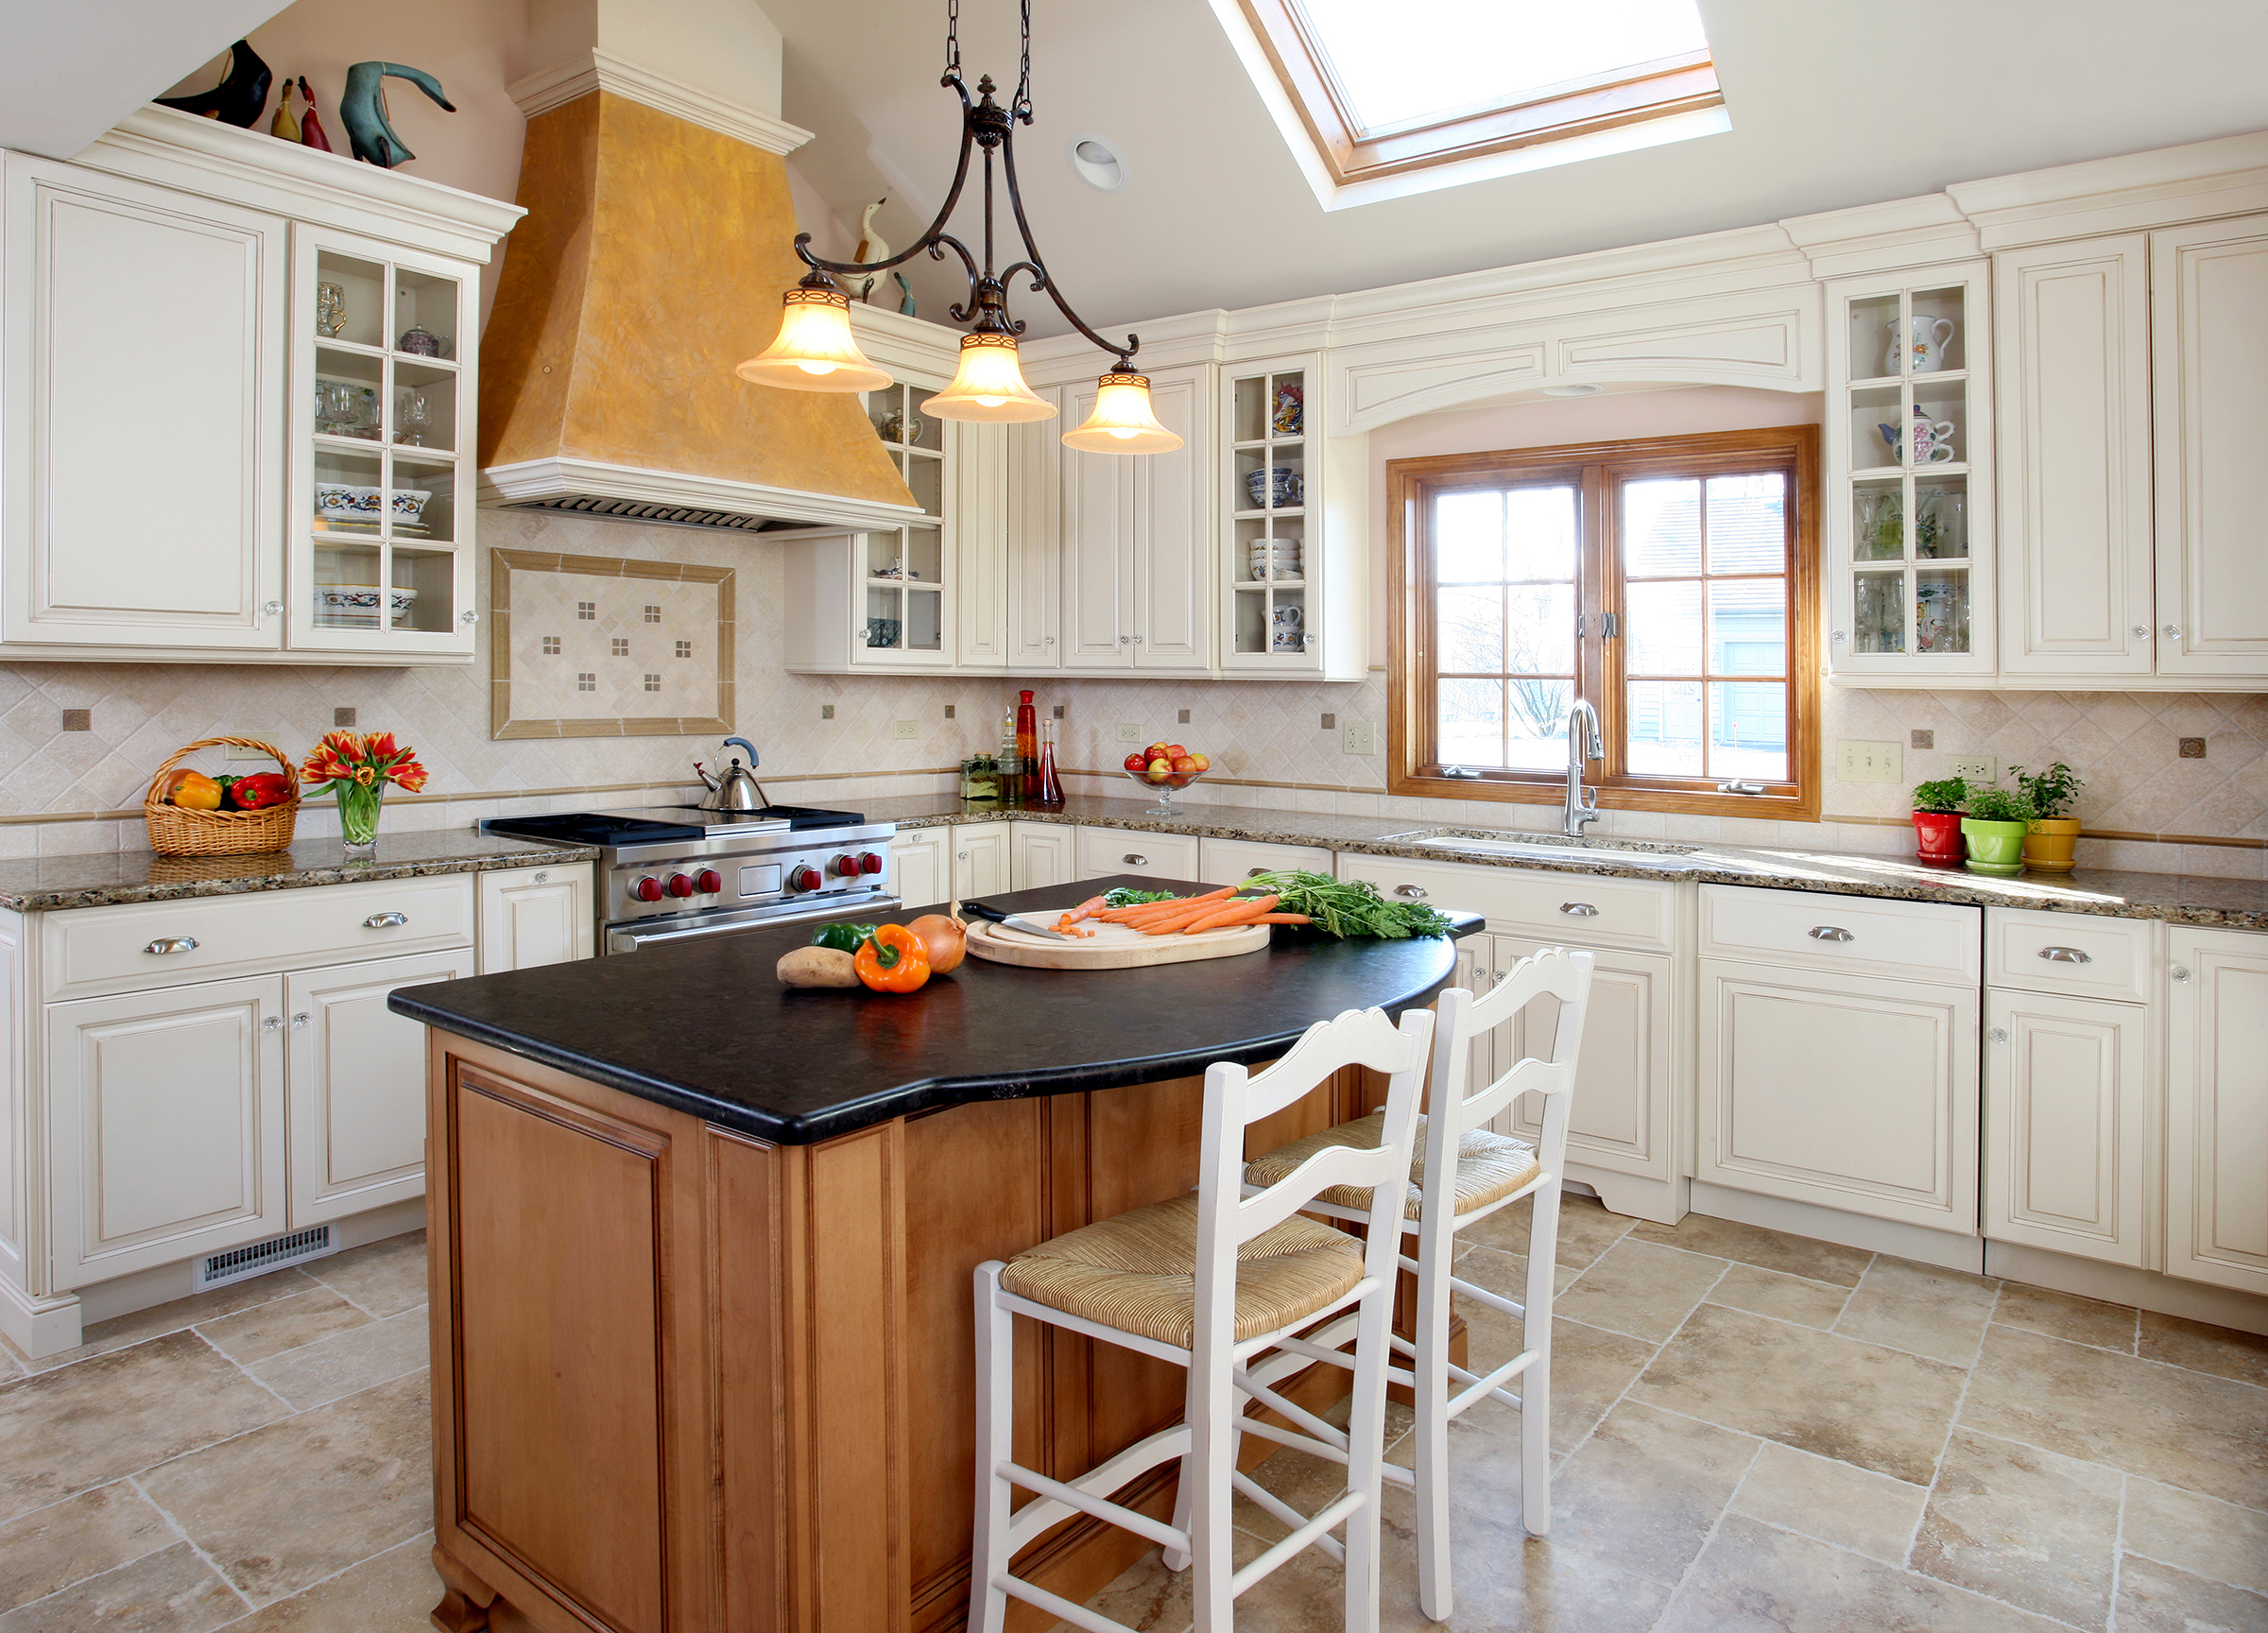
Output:
<path fill-rule="evenodd" d="M 1016 95 L 1002 107 L 993 100 L 991 75 L 978 79 L 975 98 L 962 79 L 962 0 L 946 0 L 946 75 L 939 82 L 962 100 L 962 159 L 953 172 L 953 191 L 937 211 L 937 220 L 916 245 L 887 261 L 821 261 L 812 254 L 812 236 L 796 234 L 796 256 L 810 274 L 782 297 L 780 333 L 758 356 L 735 372 L 758 386 L 785 386 L 787 390 L 816 392 L 864 392 L 891 383 L 889 374 L 875 367 L 850 333 L 850 297 L 830 277 L 875 277 L 928 252 L 932 261 L 943 261 L 953 249 L 968 268 L 968 299 L 950 306 L 953 322 L 968 324 L 962 336 L 962 363 L 946 390 L 928 397 L 923 413 L 941 420 L 1018 422 L 1052 420 L 1055 404 L 1032 392 L 1023 383 L 1023 367 L 1016 358 L 1016 336 L 1023 320 L 1007 311 L 1007 286 L 1014 277 L 1027 274 L 1032 290 L 1046 290 L 1070 327 L 1093 340 L 1102 352 L 1111 352 L 1116 363 L 1102 374 L 1095 411 L 1084 424 L 1064 433 L 1066 447 L 1093 454 L 1170 454 L 1182 447 L 1182 438 L 1157 422 L 1150 406 L 1150 379 L 1134 370 L 1139 336 L 1127 336 L 1125 345 L 1105 340 L 1070 311 L 1070 302 L 1055 286 L 1039 245 L 1032 243 L 1032 225 L 1023 213 L 1023 195 L 1016 188 L 1016 125 L 1032 122 L 1032 0 L 1023 0 L 1023 75 Z M 968 161 L 975 150 L 984 152 L 984 265 L 959 238 L 946 231 L 962 188 L 968 184 Z M 1007 204 L 1016 218 L 1016 236 L 1023 240 L 1023 259 L 993 270 L 993 161 L 1007 184 Z"/>

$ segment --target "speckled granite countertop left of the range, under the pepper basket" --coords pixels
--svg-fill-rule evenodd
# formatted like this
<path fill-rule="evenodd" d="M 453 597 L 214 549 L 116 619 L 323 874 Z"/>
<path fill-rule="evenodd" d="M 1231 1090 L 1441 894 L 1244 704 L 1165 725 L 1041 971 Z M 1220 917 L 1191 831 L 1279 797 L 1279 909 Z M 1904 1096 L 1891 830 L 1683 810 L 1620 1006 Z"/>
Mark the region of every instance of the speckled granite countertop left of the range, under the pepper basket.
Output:
<path fill-rule="evenodd" d="M 302 839 L 290 851 L 240 857 L 161 857 L 150 851 L 0 862 L 0 907 L 39 912 L 120 903 L 240 896 L 247 891 L 356 885 L 422 873 L 488 873 L 544 862 L 590 862 L 590 846 L 549 846 L 469 830 L 379 835 L 367 857 L 338 839 Z"/>

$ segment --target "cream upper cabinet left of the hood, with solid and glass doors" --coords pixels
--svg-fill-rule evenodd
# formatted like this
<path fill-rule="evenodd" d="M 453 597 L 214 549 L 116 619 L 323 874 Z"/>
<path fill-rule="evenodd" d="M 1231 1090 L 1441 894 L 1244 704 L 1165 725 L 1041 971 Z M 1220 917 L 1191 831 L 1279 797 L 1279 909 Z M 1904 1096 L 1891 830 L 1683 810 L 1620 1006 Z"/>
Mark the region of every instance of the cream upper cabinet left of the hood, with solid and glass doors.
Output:
<path fill-rule="evenodd" d="M 472 662 L 481 263 L 517 215 L 170 109 L 7 154 L 0 658 Z"/>

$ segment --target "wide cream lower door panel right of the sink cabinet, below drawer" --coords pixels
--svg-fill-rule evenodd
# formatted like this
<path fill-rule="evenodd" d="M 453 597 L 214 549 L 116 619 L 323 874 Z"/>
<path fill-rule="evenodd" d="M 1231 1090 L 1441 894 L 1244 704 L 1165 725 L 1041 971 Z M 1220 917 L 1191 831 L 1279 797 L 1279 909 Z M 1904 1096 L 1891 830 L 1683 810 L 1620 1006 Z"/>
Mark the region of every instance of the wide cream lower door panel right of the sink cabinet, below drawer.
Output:
<path fill-rule="evenodd" d="M 1975 1234 L 1978 993 L 1701 959 L 1694 1179 Z"/>

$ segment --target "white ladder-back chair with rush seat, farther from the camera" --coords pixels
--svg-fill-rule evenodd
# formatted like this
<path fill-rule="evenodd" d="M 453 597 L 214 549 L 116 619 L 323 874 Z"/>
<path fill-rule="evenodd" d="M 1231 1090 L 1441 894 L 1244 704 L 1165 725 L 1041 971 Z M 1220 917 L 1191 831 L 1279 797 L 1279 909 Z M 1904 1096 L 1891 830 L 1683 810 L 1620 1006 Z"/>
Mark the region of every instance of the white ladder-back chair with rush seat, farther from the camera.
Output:
<path fill-rule="evenodd" d="M 1417 1257 L 1402 1259 L 1417 1272 L 1417 1343 L 1395 1336 L 1393 1347 L 1411 1354 L 1413 1368 L 1393 1368 L 1393 1381 L 1406 1384 L 1417 1402 L 1417 1467 L 1386 1467 L 1386 1477 L 1415 1488 L 1417 1497 L 1417 1601 L 1442 1622 L 1456 1599 L 1449 1583 L 1449 1420 L 1486 1397 L 1520 1408 L 1520 1517 L 1533 1535 L 1551 1529 L 1551 1272 L 1558 1245 L 1560 1175 L 1567 1168 L 1567 1116 L 1574 1093 L 1576 1052 L 1583 1043 L 1583 1009 L 1590 1002 L 1590 953 L 1545 948 L 1522 959 L 1486 998 L 1463 987 L 1440 996 L 1433 1034 L 1433 1061 L 1427 1073 L 1429 1114 L 1417 1120 L 1417 1159 L 1411 1166 L 1402 1229 L 1417 1236 Z M 1558 998 L 1558 1025 L 1551 1059 L 1522 1059 L 1479 1093 L 1467 1095 L 1472 1041 L 1504 1025 L 1535 998 Z M 1535 1145 L 1488 1132 L 1490 1118 L 1520 1095 L 1542 1095 Z M 1340 1123 L 1322 1134 L 1279 1145 L 1245 1168 L 1247 1191 L 1281 1184 L 1284 1175 L 1302 1173 L 1320 1152 L 1338 1143 L 1368 1145 L 1379 1114 Z M 1429 1152 L 1454 1150 L 1454 1164 L 1427 1161 Z M 1529 1297 L 1513 1304 L 1488 1288 L 1461 1281 L 1456 1234 L 1479 1225 L 1497 1209 L 1520 1198 L 1535 1198 L 1529 1222 Z M 1370 1220 L 1374 1198 L 1354 1186 L 1325 1191 L 1309 1213 L 1343 1220 Z M 1449 1363 L 1449 1293 L 1463 1293 L 1490 1309 L 1517 1315 L 1522 1322 L 1520 1354 L 1486 1377 Z M 1336 1356 L 1345 1343 L 1347 1322 L 1309 1334 L 1300 1352 Z M 1277 1384 L 1297 1365 L 1295 1356 L 1275 1356 L 1254 1368 L 1254 1379 Z M 1517 1395 L 1504 1386 L 1522 1379 Z M 1454 1395 L 1449 1384 L 1463 1384 Z M 1243 1424 L 1259 1431 L 1256 1424 Z M 1234 1454 L 1234 1452 L 1232 1452 Z M 1259 1501 L 1259 1499 L 1254 1499 Z M 1281 1515 L 1281 1504 L 1263 1504 Z M 1288 1524 L 1288 1522 L 1286 1522 Z"/>

